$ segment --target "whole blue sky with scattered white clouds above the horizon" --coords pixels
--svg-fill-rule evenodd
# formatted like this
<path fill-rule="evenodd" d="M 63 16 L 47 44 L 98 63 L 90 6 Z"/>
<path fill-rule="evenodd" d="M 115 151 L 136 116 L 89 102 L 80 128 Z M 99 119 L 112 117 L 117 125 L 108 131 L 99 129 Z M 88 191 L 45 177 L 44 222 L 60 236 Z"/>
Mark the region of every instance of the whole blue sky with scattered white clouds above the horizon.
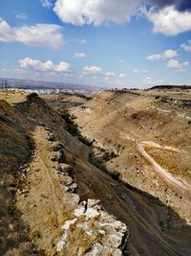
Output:
<path fill-rule="evenodd" d="M 191 2 L 0 0 L 0 77 L 191 84 Z"/>

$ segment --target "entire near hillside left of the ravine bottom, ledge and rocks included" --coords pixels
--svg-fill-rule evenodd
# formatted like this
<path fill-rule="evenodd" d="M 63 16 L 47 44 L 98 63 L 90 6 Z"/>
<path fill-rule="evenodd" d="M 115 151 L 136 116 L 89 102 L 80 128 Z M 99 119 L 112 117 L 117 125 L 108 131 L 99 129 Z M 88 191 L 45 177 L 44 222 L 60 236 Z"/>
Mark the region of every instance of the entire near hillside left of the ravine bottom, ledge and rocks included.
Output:
<path fill-rule="evenodd" d="M 10 229 L 6 238 L 6 227 L 0 233 L 2 255 L 191 254 L 186 221 L 158 198 L 124 186 L 93 165 L 91 148 L 67 131 L 52 107 L 35 94 L 14 106 L 10 96 L 10 103 L 0 110 L 0 156 L 13 161 L 3 164 L 1 173 L 2 191 L 13 188 L 7 201 Z M 14 176 L 9 184 L 5 172 Z M 1 199 L 9 197 L 6 193 Z"/>

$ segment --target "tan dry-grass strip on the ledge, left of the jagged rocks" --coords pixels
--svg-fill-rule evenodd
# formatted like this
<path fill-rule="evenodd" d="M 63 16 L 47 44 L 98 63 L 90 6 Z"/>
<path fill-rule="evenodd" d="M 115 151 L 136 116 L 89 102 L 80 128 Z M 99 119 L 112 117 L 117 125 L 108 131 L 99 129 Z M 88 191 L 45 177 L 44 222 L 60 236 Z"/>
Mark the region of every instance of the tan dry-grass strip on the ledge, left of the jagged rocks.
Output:
<path fill-rule="evenodd" d="M 44 128 L 35 129 L 36 151 L 27 170 L 26 186 L 18 193 L 17 207 L 30 226 L 34 244 L 46 255 L 53 255 L 54 244 L 61 236 L 60 227 L 74 205 L 63 198 L 59 177 L 55 173 L 56 162 L 51 161 L 51 142 L 47 137 L 48 132 Z"/>

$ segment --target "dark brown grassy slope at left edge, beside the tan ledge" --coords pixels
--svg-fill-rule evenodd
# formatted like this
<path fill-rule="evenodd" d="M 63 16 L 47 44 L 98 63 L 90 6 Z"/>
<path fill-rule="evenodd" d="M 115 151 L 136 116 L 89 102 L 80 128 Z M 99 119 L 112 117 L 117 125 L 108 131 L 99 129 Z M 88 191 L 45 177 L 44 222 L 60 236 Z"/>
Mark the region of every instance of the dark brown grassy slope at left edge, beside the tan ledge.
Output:
<path fill-rule="evenodd" d="M 21 123 L 21 115 L 6 101 L 0 100 L 0 244 L 1 255 L 13 247 L 20 253 L 28 250 L 26 227 L 15 209 L 20 169 L 32 153 L 30 134 Z M 23 117 L 22 121 L 26 121 Z M 30 244 L 31 245 L 31 244 Z"/>

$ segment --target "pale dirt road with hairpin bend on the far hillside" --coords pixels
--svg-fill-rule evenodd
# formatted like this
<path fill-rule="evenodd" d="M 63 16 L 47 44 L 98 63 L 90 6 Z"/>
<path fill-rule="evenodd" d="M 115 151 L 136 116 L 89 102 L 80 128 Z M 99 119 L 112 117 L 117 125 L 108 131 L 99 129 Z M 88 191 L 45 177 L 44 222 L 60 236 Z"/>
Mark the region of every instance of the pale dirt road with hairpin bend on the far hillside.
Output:
<path fill-rule="evenodd" d="M 178 192 L 181 196 L 191 201 L 191 186 L 186 182 L 181 181 L 179 178 L 171 175 L 167 170 L 162 168 L 154 158 L 149 155 L 146 150 L 158 149 L 161 151 L 179 151 L 172 147 L 161 147 L 159 144 L 152 141 L 142 141 L 138 144 L 138 152 L 153 166 L 155 171 L 164 180 L 164 182 Z"/>

